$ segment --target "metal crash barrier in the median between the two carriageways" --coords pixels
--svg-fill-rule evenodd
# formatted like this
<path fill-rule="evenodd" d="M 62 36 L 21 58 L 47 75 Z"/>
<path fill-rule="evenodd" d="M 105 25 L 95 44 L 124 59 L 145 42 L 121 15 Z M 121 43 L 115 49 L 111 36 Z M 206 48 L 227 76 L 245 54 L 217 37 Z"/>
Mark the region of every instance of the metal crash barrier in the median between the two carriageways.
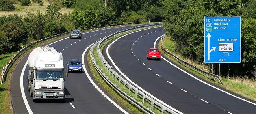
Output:
<path fill-rule="evenodd" d="M 161 25 L 161 24 L 156 24 L 156 25 Z M 155 26 L 155 25 L 150 25 L 150 26 Z M 91 48 L 90 48 L 90 56 L 91 56 L 91 60 L 93 62 L 94 67 L 97 69 L 98 73 L 100 73 L 100 75 L 103 77 L 103 79 L 108 82 L 108 84 L 111 85 L 112 88 L 114 88 L 117 92 L 119 92 L 119 94 L 123 95 L 124 97 L 126 97 L 126 99 L 128 99 L 129 101 L 131 101 L 133 104 L 137 105 L 139 108 L 141 108 L 141 110 L 149 113 L 149 114 L 154 114 L 154 112 L 152 112 L 153 106 L 157 105 L 158 107 L 161 108 L 161 112 L 162 114 L 164 113 L 164 110 L 171 113 L 171 114 L 180 114 L 181 112 L 179 112 L 178 110 L 171 108 L 169 105 L 163 104 L 160 101 L 154 99 L 153 97 L 151 97 L 150 95 L 148 95 L 146 92 L 144 92 L 143 90 L 140 90 L 137 86 L 133 85 L 131 82 L 129 82 L 126 78 L 124 78 L 122 75 L 119 75 L 111 65 L 108 64 L 108 62 L 106 61 L 106 59 L 104 58 L 104 56 L 102 55 L 101 51 L 100 51 L 100 45 L 108 40 L 111 39 L 112 37 L 115 37 L 119 34 L 123 34 L 124 32 L 129 32 L 131 30 L 135 30 L 138 28 L 144 28 L 144 27 L 149 27 L 149 26 L 140 26 L 140 27 L 136 27 L 136 28 L 131 28 L 131 29 L 127 29 L 124 31 L 119 31 L 116 32 L 114 34 L 111 34 L 107 37 L 104 37 L 103 39 L 101 39 L 100 41 L 97 41 L 96 43 L 94 43 Z M 93 50 L 94 48 L 97 47 L 97 54 L 98 57 L 100 59 L 100 62 L 102 63 L 102 65 L 104 66 L 100 66 L 100 63 L 97 63 L 94 56 L 93 56 Z M 109 73 L 109 75 L 112 75 L 112 78 L 114 78 L 114 80 L 110 80 L 110 77 L 108 78 L 108 76 L 106 76 L 105 73 L 103 73 L 102 69 L 105 69 L 107 71 L 107 73 Z M 146 108 L 145 106 L 142 105 L 141 102 L 136 101 L 133 97 L 130 97 L 129 95 L 127 95 L 126 92 L 123 92 L 121 90 L 121 88 L 118 88 L 116 84 L 112 83 L 114 81 L 119 81 L 119 86 L 121 87 L 122 85 L 124 86 L 124 88 L 128 88 L 129 89 L 129 93 L 130 92 L 134 92 L 135 93 L 135 98 L 137 98 L 138 94 L 142 96 L 142 103 L 144 103 L 145 99 L 147 99 L 148 101 L 151 102 L 151 107 L 150 108 Z"/>

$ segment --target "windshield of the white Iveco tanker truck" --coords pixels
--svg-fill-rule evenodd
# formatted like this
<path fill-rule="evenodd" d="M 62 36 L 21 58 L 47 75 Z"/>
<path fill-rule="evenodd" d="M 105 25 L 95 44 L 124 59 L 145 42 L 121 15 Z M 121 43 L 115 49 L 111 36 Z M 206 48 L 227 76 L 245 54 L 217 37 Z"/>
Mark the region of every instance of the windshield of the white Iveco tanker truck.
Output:
<path fill-rule="evenodd" d="M 60 80 L 63 79 L 63 71 L 37 71 L 37 79 Z"/>

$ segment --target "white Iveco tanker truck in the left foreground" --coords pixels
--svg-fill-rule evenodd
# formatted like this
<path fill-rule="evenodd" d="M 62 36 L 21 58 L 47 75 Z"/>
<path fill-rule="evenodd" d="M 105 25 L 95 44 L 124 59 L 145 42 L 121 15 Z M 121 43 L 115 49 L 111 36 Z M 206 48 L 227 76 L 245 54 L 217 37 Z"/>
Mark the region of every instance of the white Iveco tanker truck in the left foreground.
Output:
<path fill-rule="evenodd" d="M 37 47 L 28 56 L 28 91 L 35 99 L 65 101 L 62 53 L 54 47 Z M 65 73 L 65 77 L 68 74 Z"/>

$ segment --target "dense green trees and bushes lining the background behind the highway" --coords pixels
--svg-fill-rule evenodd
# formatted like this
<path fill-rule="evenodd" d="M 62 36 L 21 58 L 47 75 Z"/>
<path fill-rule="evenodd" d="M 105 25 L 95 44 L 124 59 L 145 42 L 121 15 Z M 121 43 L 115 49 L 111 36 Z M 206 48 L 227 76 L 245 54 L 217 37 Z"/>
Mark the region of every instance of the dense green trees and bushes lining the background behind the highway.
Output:
<path fill-rule="evenodd" d="M 48 0 L 45 13 L 0 17 L 0 54 L 22 45 L 68 32 L 109 24 L 161 22 L 182 56 L 204 60 L 204 17 L 241 17 L 241 63 L 232 64 L 232 75 L 256 79 L 256 0 Z M 0 11 L 13 4 L 43 5 L 42 0 L 0 0 Z M 82 6 L 83 2 L 91 2 Z M 62 7 L 74 9 L 60 13 Z M 225 64 L 223 64 L 225 66 Z M 215 66 L 216 67 L 216 66 Z M 227 68 L 227 67 L 226 67 Z M 226 71 L 225 71 L 226 70 Z M 227 72 L 227 69 L 223 69 Z"/>

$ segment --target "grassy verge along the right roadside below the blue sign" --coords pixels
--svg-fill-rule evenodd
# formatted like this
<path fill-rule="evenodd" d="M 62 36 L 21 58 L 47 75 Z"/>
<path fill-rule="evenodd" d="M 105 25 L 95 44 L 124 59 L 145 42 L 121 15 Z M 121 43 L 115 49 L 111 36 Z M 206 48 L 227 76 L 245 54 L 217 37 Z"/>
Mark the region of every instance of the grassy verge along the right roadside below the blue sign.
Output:
<path fill-rule="evenodd" d="M 161 42 L 159 42 L 159 45 L 161 45 Z M 182 58 L 182 56 L 180 56 L 180 54 L 178 54 L 177 52 L 174 51 L 175 43 L 171 40 L 170 37 L 166 37 L 163 40 L 163 45 L 164 45 L 165 49 L 168 49 L 169 52 L 178 56 L 182 60 L 189 61 L 190 64 L 197 66 L 198 68 L 203 69 L 204 71 L 207 71 L 206 69 L 209 69 L 209 66 L 207 66 L 207 65 L 206 66 L 199 65 L 198 63 L 191 62 L 191 60 Z M 161 46 L 159 48 L 161 48 Z M 211 78 L 210 76 L 207 77 L 206 75 L 202 75 L 202 73 L 200 73 L 199 71 L 196 71 L 193 68 L 187 67 L 187 65 L 180 64 L 176 59 L 169 57 L 167 54 L 163 54 L 163 56 L 166 56 L 170 60 L 176 62 L 181 67 L 187 69 L 188 71 L 190 71 L 191 73 L 193 73 L 195 75 L 202 77 L 203 79 L 207 80 L 208 82 L 212 82 L 213 84 L 216 84 L 222 88 L 225 88 L 226 90 L 230 90 L 238 95 L 241 95 L 243 97 L 246 97 L 248 99 L 256 101 L 256 81 L 255 80 L 243 79 L 240 77 L 232 77 L 230 80 L 228 80 L 225 77 L 221 77 L 221 81 L 223 83 L 223 86 L 222 86 L 221 84 L 218 83 L 218 80 L 213 80 L 213 78 Z"/>

